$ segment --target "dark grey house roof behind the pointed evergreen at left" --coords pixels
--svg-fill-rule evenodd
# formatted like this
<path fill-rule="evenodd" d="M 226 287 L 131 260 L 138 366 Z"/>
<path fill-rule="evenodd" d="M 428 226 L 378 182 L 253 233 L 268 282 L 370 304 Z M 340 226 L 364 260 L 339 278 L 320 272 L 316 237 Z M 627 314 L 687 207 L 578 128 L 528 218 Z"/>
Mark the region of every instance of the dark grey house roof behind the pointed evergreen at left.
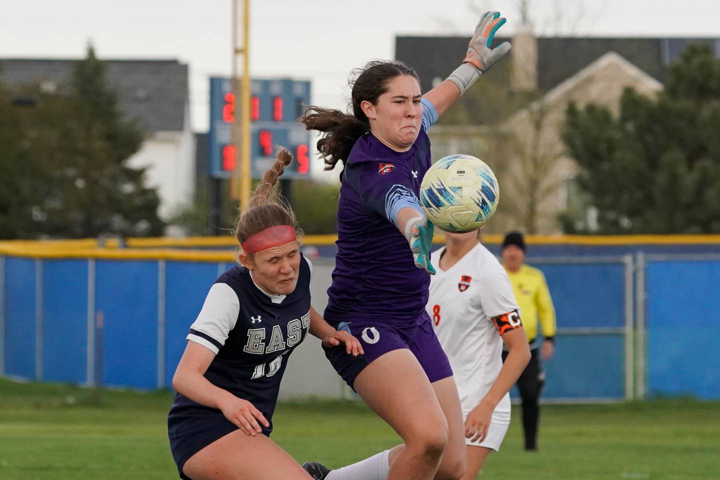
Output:
<path fill-rule="evenodd" d="M 0 58 L 0 78 L 10 86 L 68 81 L 76 60 Z M 107 79 L 127 117 L 149 132 L 181 131 L 188 104 L 188 66 L 177 60 L 105 60 Z"/>

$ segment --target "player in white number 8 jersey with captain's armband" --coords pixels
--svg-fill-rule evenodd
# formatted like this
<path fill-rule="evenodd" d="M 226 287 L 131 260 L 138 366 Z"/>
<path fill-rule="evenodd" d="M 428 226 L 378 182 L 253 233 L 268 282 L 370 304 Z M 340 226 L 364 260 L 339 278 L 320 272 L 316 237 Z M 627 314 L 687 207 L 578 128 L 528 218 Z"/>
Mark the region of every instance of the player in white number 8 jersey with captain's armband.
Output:
<path fill-rule="evenodd" d="M 427 310 L 452 367 L 465 422 L 467 470 L 474 480 L 510 425 L 508 391 L 530 360 L 518 304 L 505 268 L 479 232 L 446 233 L 433 252 Z M 499 334 L 499 335 L 498 335 Z M 503 363 L 503 342 L 508 358 Z"/>

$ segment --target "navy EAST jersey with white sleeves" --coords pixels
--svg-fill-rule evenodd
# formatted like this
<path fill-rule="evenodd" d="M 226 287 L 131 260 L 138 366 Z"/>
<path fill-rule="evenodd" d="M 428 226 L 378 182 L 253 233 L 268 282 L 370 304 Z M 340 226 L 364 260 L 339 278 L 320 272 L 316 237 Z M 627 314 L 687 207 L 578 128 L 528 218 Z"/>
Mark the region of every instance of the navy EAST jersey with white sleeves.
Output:
<path fill-rule="evenodd" d="M 287 359 L 310 328 L 311 271 L 301 256 L 294 291 L 271 295 L 255 284 L 247 268 L 230 268 L 212 285 L 187 336 L 216 353 L 205 378 L 260 410 L 271 424 L 266 433 L 272 430 Z M 210 412 L 220 413 L 176 394 L 168 416 L 170 434 L 197 430 Z"/>

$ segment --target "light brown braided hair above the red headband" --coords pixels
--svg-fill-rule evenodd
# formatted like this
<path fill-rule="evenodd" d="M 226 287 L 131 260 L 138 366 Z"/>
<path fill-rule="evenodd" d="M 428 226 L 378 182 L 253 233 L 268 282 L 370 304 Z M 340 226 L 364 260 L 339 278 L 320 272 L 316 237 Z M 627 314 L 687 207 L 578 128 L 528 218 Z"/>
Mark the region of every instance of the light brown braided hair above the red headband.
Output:
<path fill-rule="evenodd" d="M 276 160 L 256 187 L 248 209 L 238 215 L 235 237 L 240 244 L 256 233 L 278 225 L 290 225 L 297 230 L 294 212 L 275 191 L 278 177 L 290 162 L 292 155 L 287 149 L 278 148 Z"/>

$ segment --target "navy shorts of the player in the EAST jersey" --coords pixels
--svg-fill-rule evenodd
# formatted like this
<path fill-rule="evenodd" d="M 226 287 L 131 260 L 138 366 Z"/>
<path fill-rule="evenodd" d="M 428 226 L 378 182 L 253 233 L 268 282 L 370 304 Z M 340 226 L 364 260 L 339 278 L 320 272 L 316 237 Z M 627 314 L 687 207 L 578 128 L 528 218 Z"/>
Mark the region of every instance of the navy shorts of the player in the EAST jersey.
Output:
<path fill-rule="evenodd" d="M 268 422 L 271 422 L 268 419 Z M 263 435 L 270 436 L 270 428 L 260 425 Z M 183 409 L 182 412 L 172 412 L 168 416 L 168 437 L 170 438 L 170 450 L 173 453 L 175 464 L 178 467 L 180 478 L 192 480 L 182 473 L 185 462 L 195 453 L 203 448 L 220 440 L 220 438 L 238 430 L 230 420 L 222 415 L 217 409 L 198 408 Z"/>

